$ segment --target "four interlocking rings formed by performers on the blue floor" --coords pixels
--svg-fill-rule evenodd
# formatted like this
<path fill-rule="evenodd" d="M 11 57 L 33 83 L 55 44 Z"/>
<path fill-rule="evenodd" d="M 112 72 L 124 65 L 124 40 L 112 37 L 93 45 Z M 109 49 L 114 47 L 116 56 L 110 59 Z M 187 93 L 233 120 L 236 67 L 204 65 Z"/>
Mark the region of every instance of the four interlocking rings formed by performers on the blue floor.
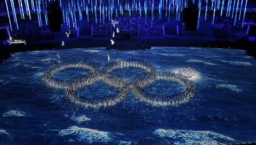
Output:
<path fill-rule="evenodd" d="M 137 67 L 142 68 L 147 71 L 147 74 L 140 75 L 135 80 L 127 80 L 125 78 L 120 78 L 117 75 L 113 75 L 111 72 L 117 68 L 125 67 Z M 87 68 L 92 72 L 89 75 L 76 77 L 72 81 L 58 81 L 52 77 L 57 71 L 66 68 Z M 185 91 L 178 96 L 161 96 L 152 95 L 146 93 L 141 87 L 146 84 L 150 84 L 155 80 L 174 80 L 184 85 Z M 126 94 L 132 90 L 133 93 L 139 98 L 139 100 L 145 101 L 150 104 L 156 104 L 159 106 L 168 106 L 173 104 L 180 104 L 188 101 L 190 97 L 194 96 L 193 82 L 189 81 L 186 77 L 181 74 L 170 74 L 170 73 L 159 73 L 148 63 L 132 60 L 121 60 L 116 62 L 111 62 L 102 69 L 100 74 L 98 67 L 92 62 L 62 62 L 59 64 L 53 64 L 44 72 L 43 80 L 55 88 L 65 88 L 66 95 L 71 102 L 80 104 L 85 107 L 100 107 L 100 106 L 111 106 L 121 101 L 126 97 Z M 76 93 L 76 89 L 84 87 L 85 85 L 92 84 L 94 81 L 103 80 L 108 84 L 120 87 L 120 90 L 116 96 L 105 96 L 101 99 L 81 97 Z"/>

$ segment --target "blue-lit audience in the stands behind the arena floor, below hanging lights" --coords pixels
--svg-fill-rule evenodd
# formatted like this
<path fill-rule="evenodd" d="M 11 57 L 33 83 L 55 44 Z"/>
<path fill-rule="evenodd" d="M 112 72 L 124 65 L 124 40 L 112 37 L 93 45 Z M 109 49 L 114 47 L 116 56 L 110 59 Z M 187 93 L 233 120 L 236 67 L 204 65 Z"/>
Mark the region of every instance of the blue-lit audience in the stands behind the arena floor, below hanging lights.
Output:
<path fill-rule="evenodd" d="M 225 15 L 225 14 L 223 14 Z M 255 17 L 252 14 L 246 14 L 245 23 L 254 22 Z M 25 19 L 21 19 L 21 17 L 17 17 L 18 27 L 17 30 L 16 24 L 12 22 L 12 31 L 10 31 L 12 36 L 15 38 L 26 39 L 27 41 L 39 41 L 42 39 L 53 39 L 55 38 L 65 38 L 67 34 L 71 37 L 72 34 L 76 34 L 76 30 L 72 29 L 72 34 L 69 34 L 67 30 L 69 29 L 66 24 L 62 24 L 62 29 L 59 35 L 54 35 L 54 33 L 50 32 L 48 25 L 44 19 L 42 19 L 43 25 L 39 27 L 39 22 L 36 14 L 31 14 L 31 20 L 28 16 L 25 16 Z M 130 38 L 130 33 L 132 33 L 132 37 L 138 36 L 163 36 L 163 25 L 165 35 L 176 35 L 176 25 L 179 27 L 180 36 L 208 36 L 215 37 L 219 39 L 229 39 L 229 35 L 232 35 L 234 38 L 237 36 L 241 36 L 246 33 L 247 26 L 241 28 L 241 19 L 236 20 L 236 25 L 234 25 L 234 18 L 218 16 L 215 17 L 214 25 L 212 25 L 212 15 L 208 14 L 206 21 L 204 21 L 204 17 L 200 17 L 200 25 L 199 29 L 195 31 L 186 31 L 185 27 L 182 24 L 182 19 L 180 21 L 176 21 L 175 16 L 170 17 L 170 21 L 168 21 L 168 17 L 162 17 L 162 19 L 158 19 L 157 16 L 153 18 L 153 23 L 151 27 L 151 17 L 147 17 L 145 24 L 145 17 L 121 17 L 113 18 L 114 20 L 119 22 L 119 31 L 120 34 L 116 35 L 115 38 L 123 39 Z M 3 21 L 0 22 L 0 26 L 9 25 L 8 16 L 1 16 Z M 131 19 L 131 20 L 130 20 Z M 227 22 L 229 19 L 229 25 Z M 130 22 L 132 22 L 130 24 Z M 91 36 L 91 30 L 93 30 L 93 37 L 110 37 L 112 36 L 111 32 L 111 22 L 105 21 L 105 23 L 97 23 L 95 24 L 94 19 L 91 18 L 89 22 L 86 19 L 82 19 L 77 22 L 79 29 L 79 36 Z M 93 29 L 92 29 L 93 27 Z M 229 27 L 231 28 L 231 34 L 229 34 Z M 131 31 L 132 28 L 132 31 Z M 67 34 L 66 34 L 67 32 Z M 74 35 L 72 36 L 74 37 Z"/>

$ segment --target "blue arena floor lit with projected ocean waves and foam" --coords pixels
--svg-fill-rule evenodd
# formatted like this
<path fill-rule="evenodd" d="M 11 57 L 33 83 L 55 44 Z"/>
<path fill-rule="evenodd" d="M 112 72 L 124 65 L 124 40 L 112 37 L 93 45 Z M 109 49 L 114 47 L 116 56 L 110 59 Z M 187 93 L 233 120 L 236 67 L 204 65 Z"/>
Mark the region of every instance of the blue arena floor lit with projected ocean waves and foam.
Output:
<path fill-rule="evenodd" d="M 81 48 L 12 55 L 0 64 L 1 143 L 256 141 L 256 63 L 242 50 Z"/>

